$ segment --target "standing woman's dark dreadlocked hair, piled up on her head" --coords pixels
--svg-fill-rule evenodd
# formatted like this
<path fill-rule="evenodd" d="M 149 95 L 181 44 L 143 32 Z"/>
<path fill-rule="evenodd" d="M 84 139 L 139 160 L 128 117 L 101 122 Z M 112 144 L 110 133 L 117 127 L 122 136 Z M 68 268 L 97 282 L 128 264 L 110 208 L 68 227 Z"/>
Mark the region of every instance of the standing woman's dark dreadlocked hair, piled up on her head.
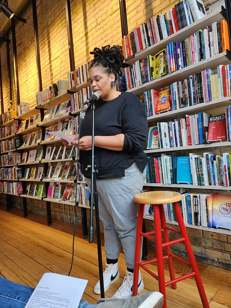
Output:
<path fill-rule="evenodd" d="M 116 79 L 117 75 L 122 75 L 121 67 L 124 57 L 119 48 L 110 45 L 103 46 L 102 49 L 95 47 L 90 54 L 94 55 L 90 68 L 102 66 L 106 73 L 115 74 Z"/>

